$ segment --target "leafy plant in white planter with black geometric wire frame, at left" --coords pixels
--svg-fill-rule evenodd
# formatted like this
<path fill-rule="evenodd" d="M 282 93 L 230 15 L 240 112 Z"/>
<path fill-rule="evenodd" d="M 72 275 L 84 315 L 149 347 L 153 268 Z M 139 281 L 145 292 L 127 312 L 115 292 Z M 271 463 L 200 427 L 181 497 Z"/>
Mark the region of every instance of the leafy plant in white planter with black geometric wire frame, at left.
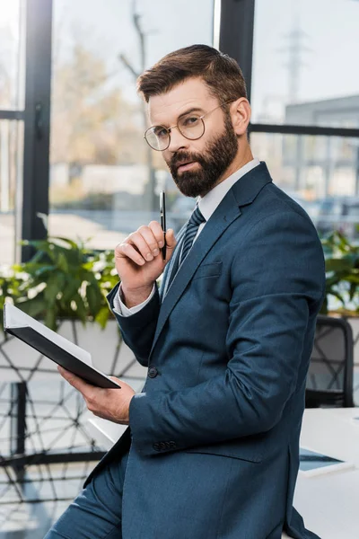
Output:
<path fill-rule="evenodd" d="M 106 301 L 118 282 L 113 252 L 93 252 L 82 242 L 60 237 L 23 244 L 33 249 L 31 260 L 3 268 L 0 273 L 1 318 L 4 303 L 10 300 L 90 351 L 94 367 L 102 372 L 122 377 L 130 376 L 136 368 L 138 377 L 144 378 L 145 369 L 135 367 L 136 359 L 122 342 Z M 101 457 L 89 430 L 85 402 L 58 375 L 54 362 L 0 332 L 0 368 L 2 465 L 13 458 L 13 435 L 9 433 L 14 428 L 18 440 L 15 452 L 22 454 L 25 468 L 41 464 L 44 455 L 48 462 L 51 455 L 56 462 L 78 459 L 80 454 L 83 460 Z M 11 391 L 9 383 L 14 383 Z"/>

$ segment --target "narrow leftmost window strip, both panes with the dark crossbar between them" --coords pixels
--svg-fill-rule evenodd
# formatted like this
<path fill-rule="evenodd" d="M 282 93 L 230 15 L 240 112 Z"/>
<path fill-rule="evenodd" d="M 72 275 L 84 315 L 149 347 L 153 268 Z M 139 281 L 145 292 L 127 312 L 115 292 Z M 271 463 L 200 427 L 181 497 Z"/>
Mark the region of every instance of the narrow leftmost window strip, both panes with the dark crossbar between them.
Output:
<path fill-rule="evenodd" d="M 24 11 L 20 0 L 0 10 L 0 265 L 19 260 L 24 107 Z"/>

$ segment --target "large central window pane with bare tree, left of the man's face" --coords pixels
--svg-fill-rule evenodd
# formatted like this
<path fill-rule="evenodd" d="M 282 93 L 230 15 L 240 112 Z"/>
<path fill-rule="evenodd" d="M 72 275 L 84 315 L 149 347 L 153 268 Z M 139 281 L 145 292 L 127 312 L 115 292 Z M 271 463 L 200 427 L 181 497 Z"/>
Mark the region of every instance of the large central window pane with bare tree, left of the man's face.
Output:
<path fill-rule="evenodd" d="M 49 234 L 113 249 L 159 220 L 163 188 L 171 226 L 179 191 L 144 141 L 136 75 L 171 50 L 212 44 L 213 12 L 208 0 L 55 0 Z"/>

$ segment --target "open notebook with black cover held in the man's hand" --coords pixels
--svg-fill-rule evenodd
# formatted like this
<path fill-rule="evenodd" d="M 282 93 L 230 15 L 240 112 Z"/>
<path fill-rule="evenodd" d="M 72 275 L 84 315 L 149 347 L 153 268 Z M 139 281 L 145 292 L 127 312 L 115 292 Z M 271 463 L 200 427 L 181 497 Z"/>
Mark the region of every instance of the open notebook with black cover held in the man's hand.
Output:
<path fill-rule="evenodd" d="M 49 330 L 43 323 L 12 304 L 4 305 L 4 331 L 26 342 L 74 375 L 81 376 L 89 384 L 105 388 L 120 387 L 109 376 L 92 367 L 90 352 L 58 335 L 56 331 Z"/>

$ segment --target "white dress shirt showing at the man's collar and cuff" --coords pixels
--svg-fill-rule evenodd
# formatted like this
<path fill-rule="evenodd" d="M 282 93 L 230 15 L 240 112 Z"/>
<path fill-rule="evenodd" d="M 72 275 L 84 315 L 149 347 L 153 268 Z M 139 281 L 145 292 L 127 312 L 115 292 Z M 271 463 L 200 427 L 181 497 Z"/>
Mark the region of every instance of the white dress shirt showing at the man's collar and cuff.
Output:
<path fill-rule="evenodd" d="M 250 172 L 256 166 L 258 166 L 258 164 L 258 159 L 252 159 L 249 163 L 246 163 L 244 166 L 242 166 L 238 171 L 233 172 L 231 176 L 228 176 L 228 178 L 221 181 L 221 183 L 218 183 L 218 185 L 216 185 L 212 190 L 210 190 L 203 198 L 198 197 L 198 208 L 200 209 L 202 215 L 205 217 L 206 222 L 208 221 L 209 217 L 212 216 L 212 214 L 215 212 L 215 209 L 225 197 L 227 192 L 232 188 L 234 183 L 236 181 L 239 181 L 241 177 L 244 176 L 244 174 L 247 174 L 247 172 Z M 193 240 L 193 243 L 196 242 L 198 235 L 201 234 L 204 226 L 206 226 L 206 222 L 201 223 L 198 226 L 197 234 L 195 239 Z M 155 291 L 155 287 L 156 284 L 154 283 L 150 296 L 148 296 L 143 303 L 136 305 L 135 307 L 128 308 L 121 299 L 121 287 L 119 286 L 118 294 L 113 298 L 114 312 L 120 314 L 121 316 L 130 316 L 131 314 L 138 313 L 138 311 L 140 311 L 144 307 L 144 305 L 146 305 L 151 300 Z"/>

